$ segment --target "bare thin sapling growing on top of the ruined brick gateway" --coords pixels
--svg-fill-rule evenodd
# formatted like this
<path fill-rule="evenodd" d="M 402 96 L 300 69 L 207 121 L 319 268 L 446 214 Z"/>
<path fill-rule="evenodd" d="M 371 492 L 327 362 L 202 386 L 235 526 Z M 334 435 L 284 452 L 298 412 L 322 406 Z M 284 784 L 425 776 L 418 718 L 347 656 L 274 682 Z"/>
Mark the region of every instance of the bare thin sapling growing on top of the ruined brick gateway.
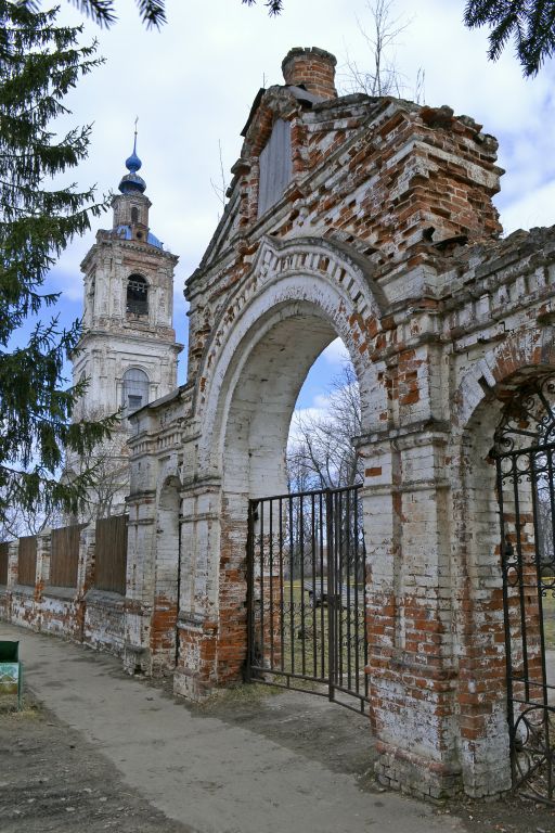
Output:
<path fill-rule="evenodd" d="M 367 0 L 366 9 L 371 26 L 364 26 L 357 17 L 359 31 L 367 46 L 372 68 L 361 67 L 347 54 L 345 89 L 347 92 L 364 92 L 366 95 L 409 94 L 417 103 L 424 101 L 425 72 L 422 67 L 416 74 L 416 81 L 411 92 L 405 93 L 409 85 L 406 76 L 399 69 L 395 48 L 399 36 L 410 26 L 411 21 L 393 16 L 395 0 Z"/>

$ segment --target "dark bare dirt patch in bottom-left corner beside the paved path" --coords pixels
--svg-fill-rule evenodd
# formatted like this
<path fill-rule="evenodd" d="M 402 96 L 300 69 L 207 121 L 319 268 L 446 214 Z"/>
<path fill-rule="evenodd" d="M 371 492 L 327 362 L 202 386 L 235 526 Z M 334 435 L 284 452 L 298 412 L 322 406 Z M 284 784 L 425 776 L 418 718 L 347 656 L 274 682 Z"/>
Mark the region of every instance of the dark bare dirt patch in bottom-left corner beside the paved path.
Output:
<path fill-rule="evenodd" d="M 2 833 L 193 833 L 126 784 L 79 732 L 26 697 L 0 705 Z"/>

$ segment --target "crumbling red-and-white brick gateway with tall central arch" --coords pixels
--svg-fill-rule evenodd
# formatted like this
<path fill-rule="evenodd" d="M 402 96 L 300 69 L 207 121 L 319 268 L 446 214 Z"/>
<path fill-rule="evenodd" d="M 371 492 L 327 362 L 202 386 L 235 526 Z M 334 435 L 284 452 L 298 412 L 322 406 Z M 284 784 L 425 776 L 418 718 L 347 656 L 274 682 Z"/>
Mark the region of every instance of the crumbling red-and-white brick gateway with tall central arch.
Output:
<path fill-rule="evenodd" d="M 555 368 L 555 231 L 499 240 L 495 140 L 449 107 L 337 98 L 334 65 L 293 50 L 285 84 L 256 98 L 186 285 L 189 381 L 132 416 L 129 641 L 155 650 L 146 530 L 178 473 L 175 690 L 241 680 L 248 501 L 286 491 L 297 393 L 339 335 L 362 400 L 376 771 L 492 795 L 511 757 L 489 450 L 506 381 Z"/>

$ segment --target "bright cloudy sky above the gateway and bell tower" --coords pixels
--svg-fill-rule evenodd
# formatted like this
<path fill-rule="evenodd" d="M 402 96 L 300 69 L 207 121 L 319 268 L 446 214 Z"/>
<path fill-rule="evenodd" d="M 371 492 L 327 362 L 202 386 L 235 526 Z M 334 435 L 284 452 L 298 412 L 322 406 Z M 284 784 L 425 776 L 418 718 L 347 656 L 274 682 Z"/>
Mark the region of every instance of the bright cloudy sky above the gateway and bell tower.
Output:
<path fill-rule="evenodd" d="M 414 97 L 422 67 L 426 104 L 449 104 L 499 139 L 499 164 L 506 174 L 495 203 L 505 232 L 554 223 L 553 62 L 532 80 L 522 79 L 512 46 L 490 63 L 487 30 L 463 26 L 464 0 L 391 5 L 392 16 L 408 24 L 395 49 L 404 97 Z M 348 59 L 361 67 L 372 61 L 359 30 L 359 22 L 371 29 L 371 16 L 365 0 L 285 0 L 279 17 L 269 17 L 260 1 L 248 8 L 241 0 L 166 0 L 168 24 L 158 33 L 140 23 L 133 0 L 116 0 L 116 7 L 119 21 L 109 30 L 86 24 L 83 40 L 96 37 L 106 62 L 66 100 L 73 111 L 68 124 L 94 123 L 89 158 L 72 179 L 82 187 L 95 182 L 100 192 L 116 190 L 139 116 L 151 228 L 180 258 L 176 329 L 184 341 L 183 283 L 221 213 L 210 182 L 221 184 L 219 144 L 229 181 L 253 100 L 260 87 L 283 82 L 281 62 L 292 47 L 334 53 L 338 87 L 345 90 Z M 67 0 L 62 8 L 60 20 L 82 20 Z M 109 228 L 109 215 L 98 227 Z M 81 308 L 79 264 L 93 240 L 91 232 L 75 241 L 51 275 L 52 286 L 63 292 L 64 315 L 73 318 Z M 334 357 L 337 350 L 330 351 L 331 368 Z M 306 402 L 319 395 L 317 387 L 307 392 Z"/>

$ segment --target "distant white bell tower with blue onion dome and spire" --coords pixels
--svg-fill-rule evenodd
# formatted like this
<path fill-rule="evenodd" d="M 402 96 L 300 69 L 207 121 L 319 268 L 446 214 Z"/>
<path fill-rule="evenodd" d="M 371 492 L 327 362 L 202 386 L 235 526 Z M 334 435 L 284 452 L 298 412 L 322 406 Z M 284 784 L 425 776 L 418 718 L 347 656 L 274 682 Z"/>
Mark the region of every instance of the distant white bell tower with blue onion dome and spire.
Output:
<path fill-rule="evenodd" d="M 137 136 L 128 172 L 112 202 L 113 227 L 100 230 L 81 264 L 83 334 L 73 357 L 74 384 L 88 381 L 74 419 L 106 416 L 121 409 L 119 427 L 95 451 L 99 484 L 86 517 L 121 512 L 129 492 L 128 416 L 177 385 L 182 345 L 172 326 L 173 269 L 178 257 L 149 228 L 151 201 L 139 176 Z M 69 457 L 70 478 L 90 461 Z"/>

